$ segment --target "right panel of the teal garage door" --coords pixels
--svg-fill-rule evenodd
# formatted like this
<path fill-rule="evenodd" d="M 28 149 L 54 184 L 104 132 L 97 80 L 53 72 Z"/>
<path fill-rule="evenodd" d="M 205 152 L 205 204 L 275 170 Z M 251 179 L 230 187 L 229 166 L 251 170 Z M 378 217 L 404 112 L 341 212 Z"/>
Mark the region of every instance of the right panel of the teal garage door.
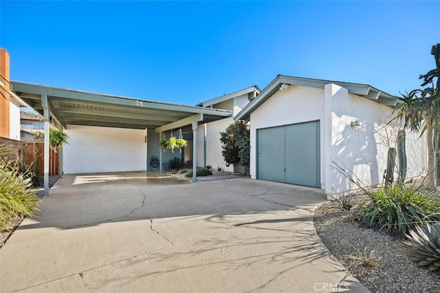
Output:
<path fill-rule="evenodd" d="M 317 122 L 286 127 L 286 182 L 317 186 Z"/>

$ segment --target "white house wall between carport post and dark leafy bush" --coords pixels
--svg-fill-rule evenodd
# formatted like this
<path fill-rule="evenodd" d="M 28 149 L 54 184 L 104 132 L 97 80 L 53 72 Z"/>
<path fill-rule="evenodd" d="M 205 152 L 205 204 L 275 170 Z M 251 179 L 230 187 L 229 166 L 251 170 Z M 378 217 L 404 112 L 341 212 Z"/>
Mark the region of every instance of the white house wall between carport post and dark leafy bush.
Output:
<path fill-rule="evenodd" d="M 232 111 L 232 116 L 235 116 L 248 103 L 248 94 L 245 94 L 214 105 L 213 108 Z M 206 138 L 206 164 L 212 166 L 214 170 L 220 167 L 223 171 L 234 171 L 234 166 L 226 166 L 223 160 L 220 142 L 220 132 L 225 131 L 226 127 L 232 123 L 234 123 L 233 118 L 225 118 L 199 125 L 197 129 L 197 166 L 203 166 L 203 140 Z"/>

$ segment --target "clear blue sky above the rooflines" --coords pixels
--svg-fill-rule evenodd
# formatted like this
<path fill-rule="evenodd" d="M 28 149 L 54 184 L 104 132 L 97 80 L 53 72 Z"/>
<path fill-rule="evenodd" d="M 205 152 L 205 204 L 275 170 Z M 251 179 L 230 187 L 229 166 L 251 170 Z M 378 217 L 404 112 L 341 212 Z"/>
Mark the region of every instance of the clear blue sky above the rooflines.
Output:
<path fill-rule="evenodd" d="M 0 1 L 11 79 L 181 104 L 277 74 L 418 88 L 440 1 Z M 437 26 L 436 26 L 437 23 Z"/>

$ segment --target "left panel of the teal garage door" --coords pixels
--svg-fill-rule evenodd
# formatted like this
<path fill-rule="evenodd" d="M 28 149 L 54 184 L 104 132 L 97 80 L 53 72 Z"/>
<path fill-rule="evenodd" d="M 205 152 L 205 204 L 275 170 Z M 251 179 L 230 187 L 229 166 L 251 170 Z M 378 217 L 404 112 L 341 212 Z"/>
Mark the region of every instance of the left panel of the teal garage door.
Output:
<path fill-rule="evenodd" d="M 259 142 L 259 179 L 285 180 L 285 129 L 260 129 Z"/>

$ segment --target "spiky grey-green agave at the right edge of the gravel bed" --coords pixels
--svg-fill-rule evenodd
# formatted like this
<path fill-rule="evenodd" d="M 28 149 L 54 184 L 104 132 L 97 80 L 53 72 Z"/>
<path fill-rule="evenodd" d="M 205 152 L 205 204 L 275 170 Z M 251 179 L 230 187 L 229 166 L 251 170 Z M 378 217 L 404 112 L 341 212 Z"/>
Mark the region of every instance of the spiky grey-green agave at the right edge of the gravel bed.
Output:
<path fill-rule="evenodd" d="M 404 243 L 410 249 L 410 259 L 417 261 L 417 265 L 429 265 L 432 271 L 440 269 L 440 222 L 416 226 L 406 237 Z"/>

